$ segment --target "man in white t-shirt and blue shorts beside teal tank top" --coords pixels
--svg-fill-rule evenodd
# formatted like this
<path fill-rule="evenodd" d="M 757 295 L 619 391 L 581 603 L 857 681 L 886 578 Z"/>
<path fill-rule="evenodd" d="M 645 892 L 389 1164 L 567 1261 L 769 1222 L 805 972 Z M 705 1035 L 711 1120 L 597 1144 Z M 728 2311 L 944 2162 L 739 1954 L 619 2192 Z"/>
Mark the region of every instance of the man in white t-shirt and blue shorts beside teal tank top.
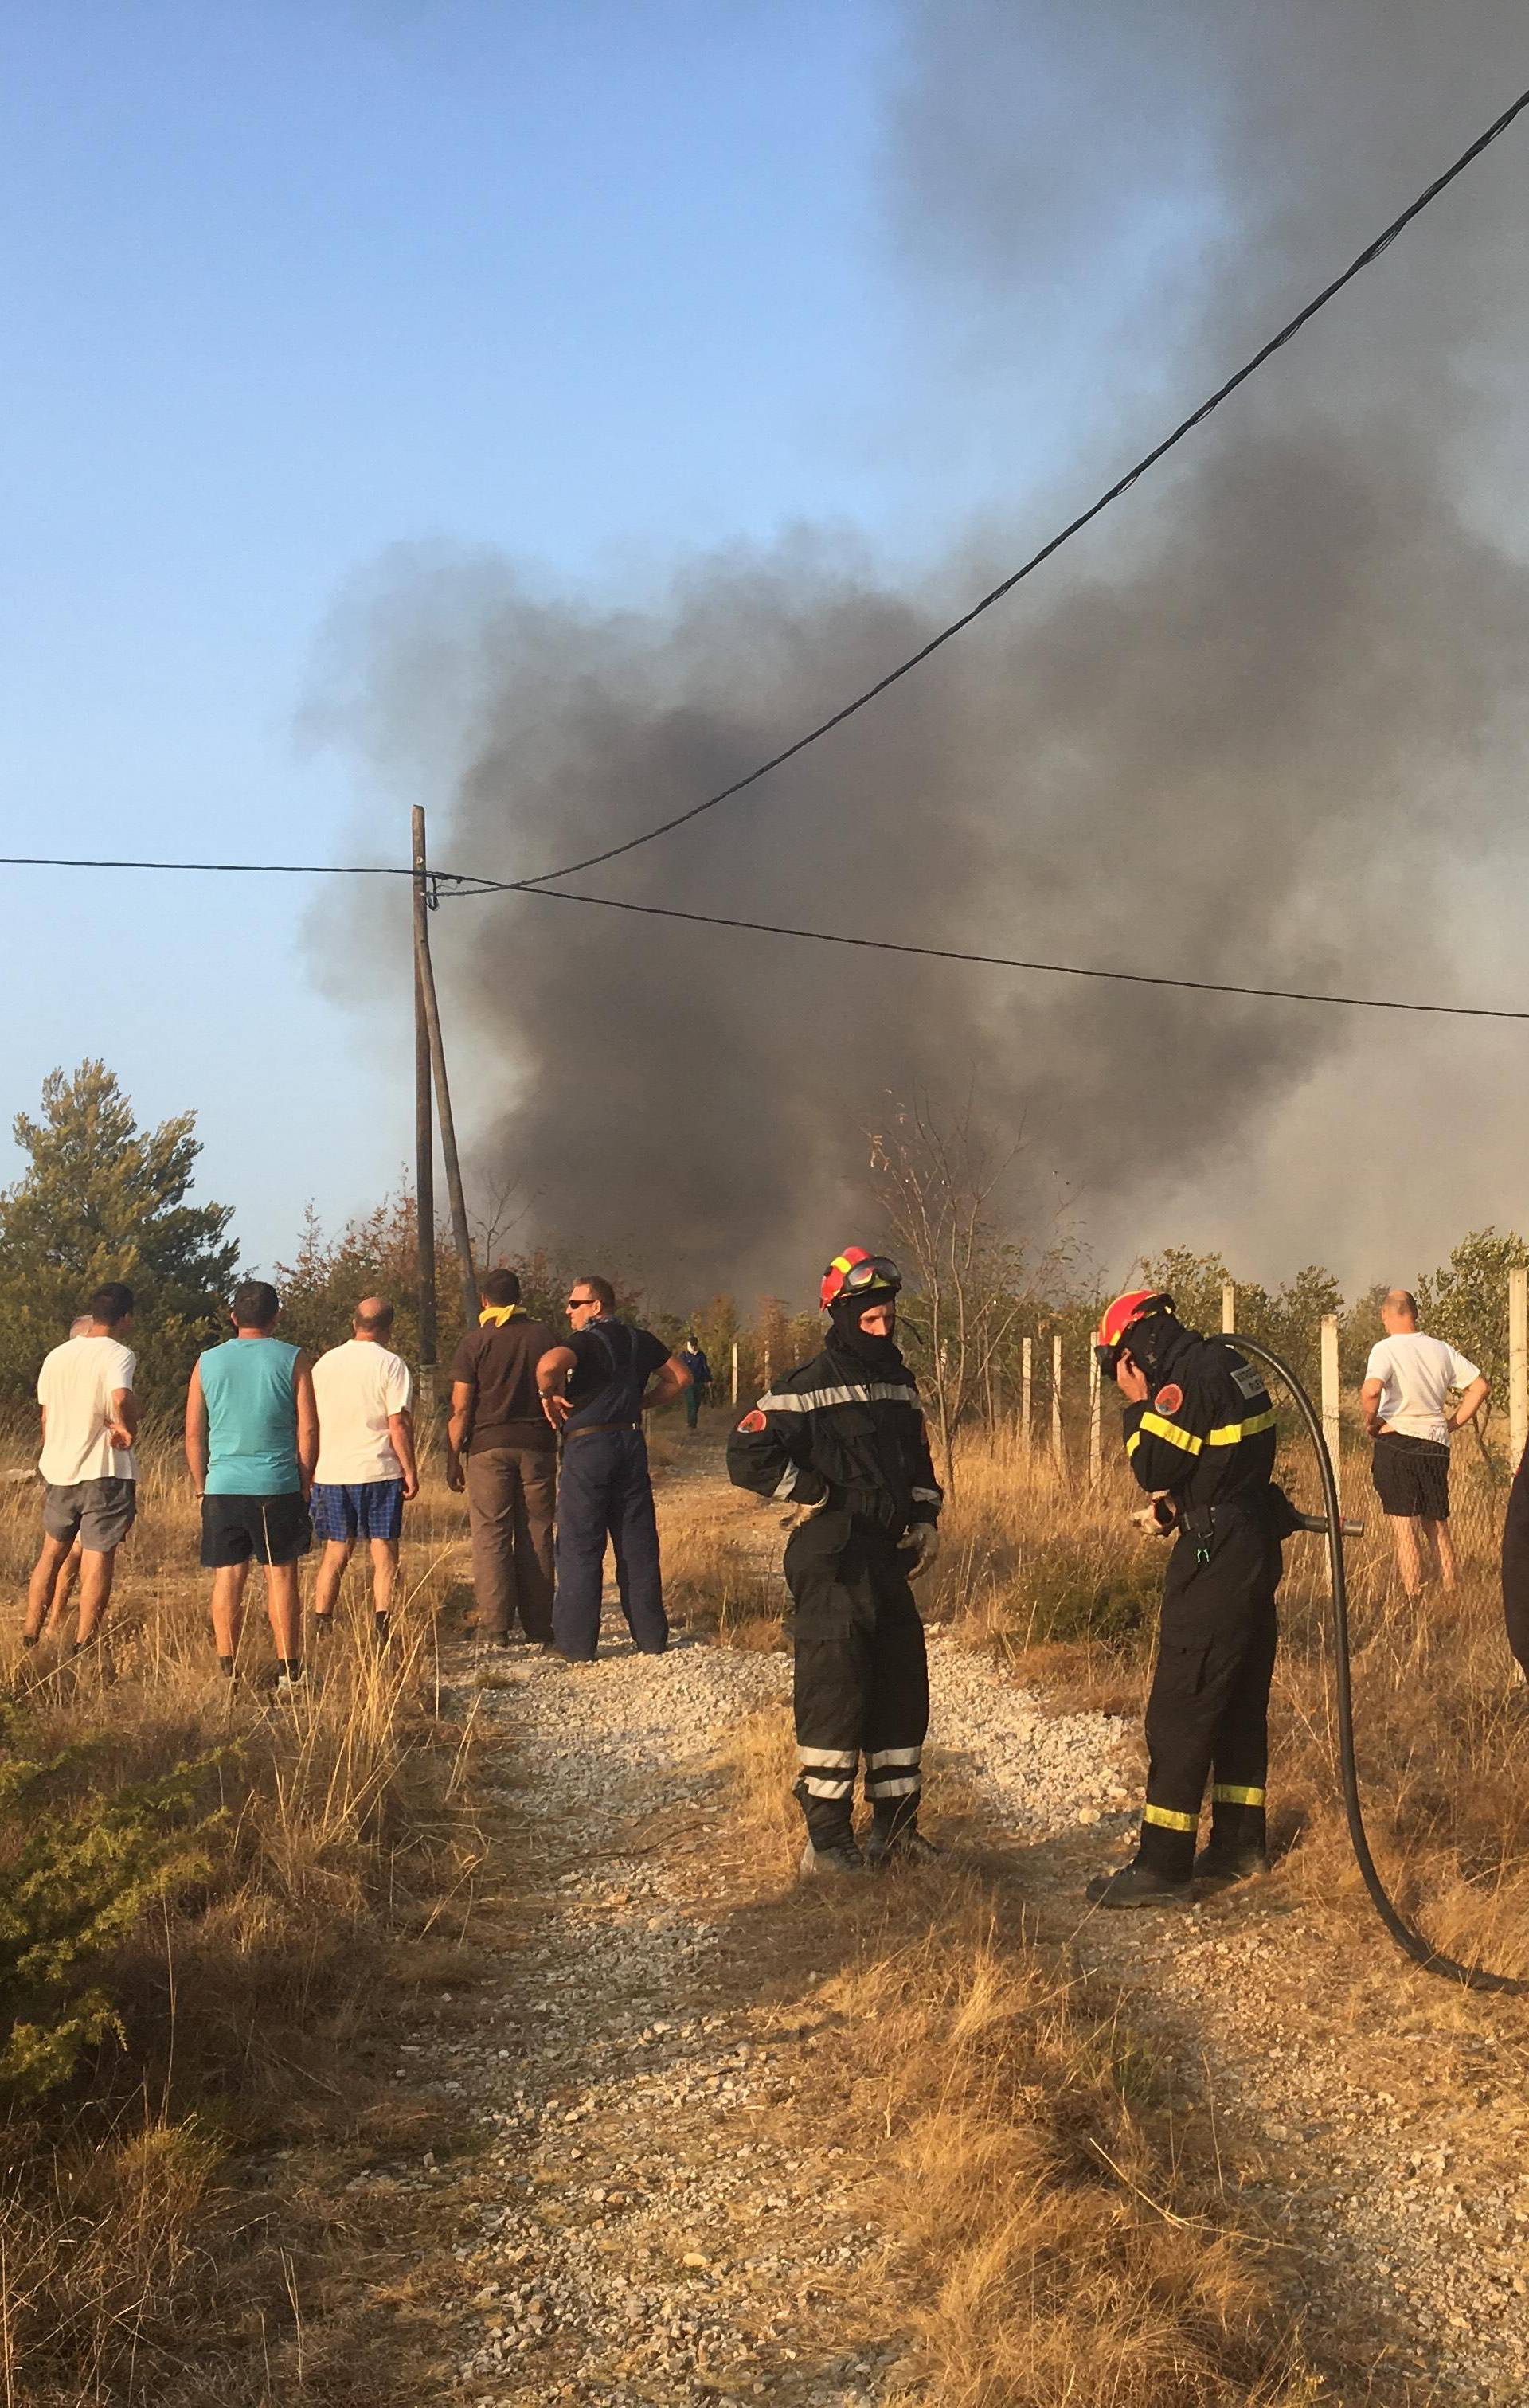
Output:
<path fill-rule="evenodd" d="M 318 1466 L 313 1471 L 313 1531 L 325 1541 L 313 1587 L 313 1621 L 335 1623 L 335 1599 L 356 1539 L 371 1548 L 371 1604 L 378 1642 L 388 1637 L 397 1582 L 397 1541 L 405 1503 L 419 1495 L 414 1464 L 414 1382 L 388 1346 L 392 1305 L 364 1296 L 354 1336 L 330 1346 L 313 1365 L 318 1401 Z"/>

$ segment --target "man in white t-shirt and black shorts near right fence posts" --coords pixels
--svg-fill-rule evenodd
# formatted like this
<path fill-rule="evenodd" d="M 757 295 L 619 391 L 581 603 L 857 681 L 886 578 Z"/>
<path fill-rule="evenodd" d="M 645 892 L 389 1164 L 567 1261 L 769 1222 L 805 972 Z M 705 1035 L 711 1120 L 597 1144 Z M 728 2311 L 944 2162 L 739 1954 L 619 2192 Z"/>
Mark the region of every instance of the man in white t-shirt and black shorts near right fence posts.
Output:
<path fill-rule="evenodd" d="M 1392 1288 L 1380 1308 L 1385 1336 L 1370 1346 L 1360 1404 L 1375 1440 L 1370 1476 L 1392 1524 L 1401 1587 L 1416 1597 L 1428 1577 L 1459 1580 L 1450 1536 L 1450 1433 L 1486 1399 L 1486 1380 L 1445 1339 L 1418 1329 L 1418 1300 Z M 1459 1397 L 1457 1404 L 1450 1397 Z"/>

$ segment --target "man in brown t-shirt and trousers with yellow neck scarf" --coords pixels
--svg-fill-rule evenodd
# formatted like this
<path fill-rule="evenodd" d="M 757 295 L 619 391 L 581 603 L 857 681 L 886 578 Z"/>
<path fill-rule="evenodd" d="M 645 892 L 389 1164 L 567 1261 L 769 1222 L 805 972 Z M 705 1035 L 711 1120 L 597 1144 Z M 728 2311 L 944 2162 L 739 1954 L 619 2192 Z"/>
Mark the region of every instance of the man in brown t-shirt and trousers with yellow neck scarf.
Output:
<path fill-rule="evenodd" d="M 486 1271 L 479 1303 L 479 1324 L 450 1365 L 445 1486 L 467 1488 L 482 1635 L 508 1647 L 520 1618 L 527 1640 L 549 1645 L 556 1435 L 542 1411 L 537 1363 L 556 1336 L 520 1310 L 515 1271 Z"/>

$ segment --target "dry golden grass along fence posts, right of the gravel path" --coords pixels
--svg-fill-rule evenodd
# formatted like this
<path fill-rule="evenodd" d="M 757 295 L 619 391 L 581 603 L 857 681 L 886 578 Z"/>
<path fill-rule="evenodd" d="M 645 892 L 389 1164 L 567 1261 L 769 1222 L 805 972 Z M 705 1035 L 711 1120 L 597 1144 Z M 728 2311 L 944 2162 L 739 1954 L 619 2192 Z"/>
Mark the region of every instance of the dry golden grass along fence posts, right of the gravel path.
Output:
<path fill-rule="evenodd" d="M 1317 1500 L 1315 1464 L 1291 1445 L 1281 1479 Z M 1498 1548 L 1505 1486 L 1474 1445 L 1457 1447 L 1454 1539 L 1462 1584 L 1409 1606 L 1392 1570 L 1368 1450 L 1344 1447 L 1358 1763 L 1370 1840 L 1387 1885 L 1452 1953 L 1529 1970 L 1529 1690 L 1503 1635 Z M 1139 1712 L 1165 1548 L 1139 1536 L 1134 1486 L 1110 1462 L 1096 1491 L 1026 1459 L 1014 1433 L 968 1442 L 937 1613 L 973 1645 L 1009 1657 L 1069 1705 Z M 1327 1556 L 1286 1546 L 1283 1645 L 1274 1681 L 1271 1806 L 1283 1878 L 1334 1934 L 1363 1898 L 1339 1787 Z M 1368 1912 L 1368 1910 L 1365 1910 Z"/>

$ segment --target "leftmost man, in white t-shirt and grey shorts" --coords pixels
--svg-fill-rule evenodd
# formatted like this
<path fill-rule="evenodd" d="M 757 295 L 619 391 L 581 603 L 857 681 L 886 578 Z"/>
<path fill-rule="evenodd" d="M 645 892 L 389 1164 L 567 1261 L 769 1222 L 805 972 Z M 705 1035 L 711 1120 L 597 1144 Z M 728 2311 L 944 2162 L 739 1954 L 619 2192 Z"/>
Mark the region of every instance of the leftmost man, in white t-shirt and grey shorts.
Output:
<path fill-rule="evenodd" d="M 36 1647 L 58 1577 L 79 1541 L 79 1625 L 75 1652 L 101 1630 L 116 1551 L 137 1512 L 135 1358 L 123 1339 L 132 1329 L 132 1288 L 108 1279 L 89 1300 L 89 1329 L 43 1356 L 36 1401 L 43 1416 L 39 1471 L 43 1551 L 26 1589 L 22 1645 Z"/>

